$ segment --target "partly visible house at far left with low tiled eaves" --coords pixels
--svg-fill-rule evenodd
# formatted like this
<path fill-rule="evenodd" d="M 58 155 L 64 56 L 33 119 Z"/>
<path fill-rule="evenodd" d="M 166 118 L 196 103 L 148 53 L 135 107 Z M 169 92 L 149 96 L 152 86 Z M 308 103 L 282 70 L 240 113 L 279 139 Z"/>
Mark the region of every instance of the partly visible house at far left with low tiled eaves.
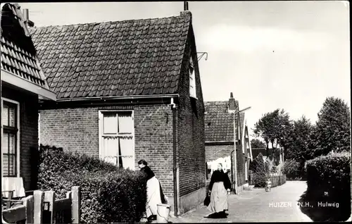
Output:
<path fill-rule="evenodd" d="M 36 189 L 32 161 L 38 149 L 38 98 L 56 99 L 39 66 L 29 23 L 18 4 L 1 5 L 2 190 Z"/>

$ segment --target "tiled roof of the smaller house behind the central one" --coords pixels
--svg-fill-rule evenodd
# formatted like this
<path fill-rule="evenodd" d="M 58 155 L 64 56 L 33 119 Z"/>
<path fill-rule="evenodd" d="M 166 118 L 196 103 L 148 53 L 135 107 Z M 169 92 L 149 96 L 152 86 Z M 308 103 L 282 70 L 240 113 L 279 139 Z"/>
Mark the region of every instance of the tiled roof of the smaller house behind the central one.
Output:
<path fill-rule="evenodd" d="M 206 142 L 234 141 L 234 115 L 228 112 L 228 105 L 229 101 L 204 102 Z M 243 133 L 244 113 L 240 113 L 240 120 Z"/>

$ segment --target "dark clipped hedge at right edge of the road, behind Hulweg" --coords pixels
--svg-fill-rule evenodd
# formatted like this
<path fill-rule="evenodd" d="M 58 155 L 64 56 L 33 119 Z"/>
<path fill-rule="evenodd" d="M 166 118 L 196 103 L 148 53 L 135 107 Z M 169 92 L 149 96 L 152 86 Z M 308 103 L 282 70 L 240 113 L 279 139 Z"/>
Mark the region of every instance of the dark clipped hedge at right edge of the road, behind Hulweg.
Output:
<path fill-rule="evenodd" d="M 317 220 L 347 220 L 351 216 L 351 154 L 328 154 L 314 158 L 306 162 L 306 170 L 306 198 L 315 204 L 339 204 L 327 208 L 318 206 L 324 217 L 317 217 Z"/>

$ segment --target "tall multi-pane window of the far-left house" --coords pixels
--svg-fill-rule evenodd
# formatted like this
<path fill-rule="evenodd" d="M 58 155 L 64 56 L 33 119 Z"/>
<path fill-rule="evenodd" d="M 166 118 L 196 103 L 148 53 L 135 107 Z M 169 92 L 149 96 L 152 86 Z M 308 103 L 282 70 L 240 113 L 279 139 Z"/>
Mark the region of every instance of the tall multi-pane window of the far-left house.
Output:
<path fill-rule="evenodd" d="M 16 101 L 4 99 L 1 101 L 2 123 L 2 170 L 4 177 L 19 176 L 19 104 Z"/>

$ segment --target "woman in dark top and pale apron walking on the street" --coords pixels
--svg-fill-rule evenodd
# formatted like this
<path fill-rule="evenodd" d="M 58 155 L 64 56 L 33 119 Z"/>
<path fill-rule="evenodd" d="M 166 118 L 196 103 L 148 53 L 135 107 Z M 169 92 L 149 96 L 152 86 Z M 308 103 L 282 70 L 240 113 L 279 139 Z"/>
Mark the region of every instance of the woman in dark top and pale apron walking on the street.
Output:
<path fill-rule="evenodd" d="M 227 194 L 230 194 L 231 182 L 229 176 L 222 170 L 222 164 L 218 164 L 218 170 L 211 175 L 209 191 L 210 204 L 208 210 L 213 212 L 207 218 L 227 218 L 228 201 Z"/>

